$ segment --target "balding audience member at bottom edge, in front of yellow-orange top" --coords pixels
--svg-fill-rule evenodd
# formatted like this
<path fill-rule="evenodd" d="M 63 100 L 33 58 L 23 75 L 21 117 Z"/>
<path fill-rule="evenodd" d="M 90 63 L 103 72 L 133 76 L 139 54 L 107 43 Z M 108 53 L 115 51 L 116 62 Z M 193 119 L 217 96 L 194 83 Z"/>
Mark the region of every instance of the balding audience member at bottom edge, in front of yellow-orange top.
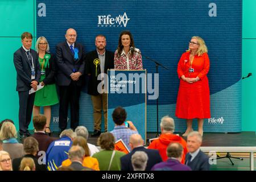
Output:
<path fill-rule="evenodd" d="M 88 168 L 82 166 L 82 162 L 84 161 L 84 155 L 84 148 L 80 146 L 72 146 L 68 151 L 68 158 L 71 160 L 70 167 L 75 169 L 75 171 L 80 171 L 82 169 Z"/>

